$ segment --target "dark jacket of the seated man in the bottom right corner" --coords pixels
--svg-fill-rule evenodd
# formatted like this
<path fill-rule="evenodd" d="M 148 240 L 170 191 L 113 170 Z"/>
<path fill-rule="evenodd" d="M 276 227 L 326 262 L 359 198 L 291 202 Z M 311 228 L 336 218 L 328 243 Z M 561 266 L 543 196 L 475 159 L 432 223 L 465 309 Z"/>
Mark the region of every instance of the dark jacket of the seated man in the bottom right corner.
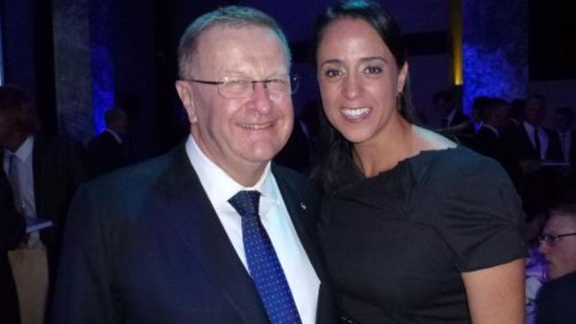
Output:
<path fill-rule="evenodd" d="M 573 324 L 576 321 L 576 273 L 542 286 L 536 297 L 536 324 Z"/>

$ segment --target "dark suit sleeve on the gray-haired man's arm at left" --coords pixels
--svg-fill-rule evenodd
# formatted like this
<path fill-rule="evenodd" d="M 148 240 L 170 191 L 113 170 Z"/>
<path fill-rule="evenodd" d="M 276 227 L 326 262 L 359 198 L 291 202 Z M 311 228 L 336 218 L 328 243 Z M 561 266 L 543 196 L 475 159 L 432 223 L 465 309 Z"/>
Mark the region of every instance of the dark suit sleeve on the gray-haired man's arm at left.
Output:
<path fill-rule="evenodd" d="M 102 212 L 82 186 L 70 208 L 54 299 L 54 323 L 117 323 Z"/>

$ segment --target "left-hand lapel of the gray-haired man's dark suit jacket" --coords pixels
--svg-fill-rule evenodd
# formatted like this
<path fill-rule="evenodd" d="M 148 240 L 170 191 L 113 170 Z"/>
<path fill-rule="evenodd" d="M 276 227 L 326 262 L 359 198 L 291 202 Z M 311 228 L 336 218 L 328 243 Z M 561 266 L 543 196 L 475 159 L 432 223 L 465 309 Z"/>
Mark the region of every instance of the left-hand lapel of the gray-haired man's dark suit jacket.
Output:
<path fill-rule="evenodd" d="M 172 157 L 172 166 L 157 184 L 160 208 L 169 215 L 169 226 L 246 323 L 268 323 L 252 278 L 237 257 L 184 145 L 173 151 Z"/>

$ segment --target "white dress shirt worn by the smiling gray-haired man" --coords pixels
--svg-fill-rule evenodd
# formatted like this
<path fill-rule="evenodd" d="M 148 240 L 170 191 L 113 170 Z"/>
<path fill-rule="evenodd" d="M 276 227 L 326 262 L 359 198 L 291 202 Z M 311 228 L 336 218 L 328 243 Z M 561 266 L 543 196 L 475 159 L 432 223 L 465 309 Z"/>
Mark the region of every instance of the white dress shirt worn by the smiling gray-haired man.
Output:
<path fill-rule="evenodd" d="M 222 227 L 230 238 L 230 243 L 248 272 L 242 241 L 242 220 L 228 200 L 240 190 L 261 192 L 259 207 L 261 222 L 284 269 L 300 319 L 302 323 L 315 323 L 320 280 L 300 243 L 274 174 L 270 172 L 270 163 L 266 166 L 261 179 L 253 187 L 245 188 L 207 158 L 191 135 L 186 141 L 186 153 Z"/>

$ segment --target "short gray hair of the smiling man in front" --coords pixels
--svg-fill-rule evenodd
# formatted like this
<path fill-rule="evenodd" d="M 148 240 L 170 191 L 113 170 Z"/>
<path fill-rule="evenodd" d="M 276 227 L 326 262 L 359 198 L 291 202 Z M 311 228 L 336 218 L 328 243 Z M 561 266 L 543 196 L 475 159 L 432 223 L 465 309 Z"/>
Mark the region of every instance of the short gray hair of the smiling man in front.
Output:
<path fill-rule="evenodd" d="M 188 74 L 190 73 L 192 58 L 196 53 L 198 36 L 206 29 L 214 26 L 256 26 L 271 29 L 276 36 L 278 36 L 280 43 L 282 43 L 286 57 L 288 58 L 288 64 L 290 64 L 292 59 L 290 48 L 288 47 L 286 36 L 276 23 L 276 20 L 272 19 L 266 13 L 251 7 L 230 5 L 198 17 L 186 28 L 178 45 L 178 75 L 180 79 L 186 80 L 191 78 L 191 75 Z"/>

